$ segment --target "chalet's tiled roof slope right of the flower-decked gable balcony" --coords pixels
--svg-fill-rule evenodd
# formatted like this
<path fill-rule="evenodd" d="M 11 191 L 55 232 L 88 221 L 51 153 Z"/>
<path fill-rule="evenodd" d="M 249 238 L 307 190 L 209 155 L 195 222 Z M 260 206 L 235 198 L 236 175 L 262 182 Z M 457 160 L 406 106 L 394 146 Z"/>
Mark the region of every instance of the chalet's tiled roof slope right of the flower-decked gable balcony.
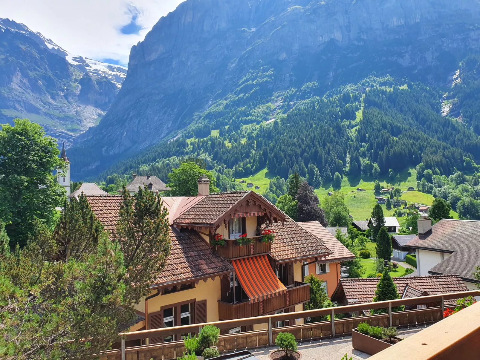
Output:
<path fill-rule="evenodd" d="M 321 240 L 288 216 L 283 225 L 279 221 L 268 228 L 275 231 L 271 254 L 277 262 L 309 259 L 330 253 Z"/>

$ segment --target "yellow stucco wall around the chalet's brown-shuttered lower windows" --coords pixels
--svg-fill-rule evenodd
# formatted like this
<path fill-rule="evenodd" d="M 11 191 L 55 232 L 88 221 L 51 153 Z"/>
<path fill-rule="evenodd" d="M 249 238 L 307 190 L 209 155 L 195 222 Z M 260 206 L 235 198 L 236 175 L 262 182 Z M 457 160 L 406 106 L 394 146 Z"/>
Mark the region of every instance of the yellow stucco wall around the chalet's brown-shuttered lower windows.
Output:
<path fill-rule="evenodd" d="M 152 291 L 152 294 L 155 294 Z M 148 313 L 157 312 L 162 306 L 175 304 L 177 302 L 192 300 L 207 300 L 207 321 L 218 321 L 218 300 L 221 299 L 220 277 L 214 280 L 201 280 L 195 288 L 173 292 L 165 295 L 158 295 L 148 300 Z M 136 307 L 137 310 L 145 312 L 145 301 L 142 300 Z"/>

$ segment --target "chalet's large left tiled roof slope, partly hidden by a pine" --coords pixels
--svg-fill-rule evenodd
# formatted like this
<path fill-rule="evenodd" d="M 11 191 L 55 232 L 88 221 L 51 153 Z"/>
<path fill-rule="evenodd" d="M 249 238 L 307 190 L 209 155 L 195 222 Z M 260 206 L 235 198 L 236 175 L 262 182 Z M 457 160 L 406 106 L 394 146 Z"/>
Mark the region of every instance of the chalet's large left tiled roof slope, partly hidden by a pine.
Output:
<path fill-rule="evenodd" d="M 112 234 L 118 220 L 121 204 L 120 195 L 87 196 L 87 200 L 97 218 Z M 170 228 L 170 255 L 165 269 L 158 274 L 155 285 L 163 285 L 184 280 L 194 280 L 205 276 L 233 270 L 227 260 L 213 252 L 210 246 L 194 231 L 180 232 Z"/>

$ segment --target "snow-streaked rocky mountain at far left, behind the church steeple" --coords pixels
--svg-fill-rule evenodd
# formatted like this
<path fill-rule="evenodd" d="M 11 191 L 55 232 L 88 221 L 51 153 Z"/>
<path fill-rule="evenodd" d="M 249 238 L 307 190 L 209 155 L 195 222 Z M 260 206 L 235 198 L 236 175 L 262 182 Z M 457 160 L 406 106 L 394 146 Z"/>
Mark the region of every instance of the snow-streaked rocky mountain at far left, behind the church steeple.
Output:
<path fill-rule="evenodd" d="M 24 24 L 0 19 L 0 121 L 29 118 L 72 140 L 97 124 L 127 69 L 73 55 Z"/>

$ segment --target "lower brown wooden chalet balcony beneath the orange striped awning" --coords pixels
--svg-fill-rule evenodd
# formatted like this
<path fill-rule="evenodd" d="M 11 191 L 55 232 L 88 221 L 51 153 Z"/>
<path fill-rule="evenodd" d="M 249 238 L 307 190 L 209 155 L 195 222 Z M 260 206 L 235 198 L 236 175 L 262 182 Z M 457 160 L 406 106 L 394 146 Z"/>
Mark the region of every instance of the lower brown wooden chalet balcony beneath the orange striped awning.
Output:
<path fill-rule="evenodd" d="M 231 304 L 225 301 L 218 301 L 218 318 L 220 320 L 234 320 L 245 317 L 254 317 L 270 312 L 275 312 L 301 304 L 310 300 L 310 284 L 295 281 L 293 287 L 287 288 L 287 293 L 259 302 L 250 303 L 247 301 Z"/>

